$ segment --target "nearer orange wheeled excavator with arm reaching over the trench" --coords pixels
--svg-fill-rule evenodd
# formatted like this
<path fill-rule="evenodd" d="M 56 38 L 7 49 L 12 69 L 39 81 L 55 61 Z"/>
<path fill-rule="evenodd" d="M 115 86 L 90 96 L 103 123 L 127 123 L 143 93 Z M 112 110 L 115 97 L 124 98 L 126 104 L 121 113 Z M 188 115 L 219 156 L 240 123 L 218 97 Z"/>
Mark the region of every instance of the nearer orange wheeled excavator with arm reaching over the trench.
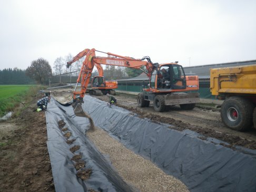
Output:
<path fill-rule="evenodd" d="M 149 56 L 145 56 L 142 59 L 135 59 L 101 52 L 108 55 L 108 57 L 102 57 L 96 56 L 95 52 L 101 51 L 95 50 L 94 48 L 85 49 L 76 56 L 81 58 L 81 55 L 86 55 L 73 93 L 74 101 L 83 99 L 94 66 L 100 72 L 102 70 L 101 65 L 114 65 L 135 69 L 141 69 L 142 66 L 145 66 L 145 70 L 141 70 L 149 77 L 149 88 L 143 89 L 143 93 L 137 96 L 139 107 L 147 107 L 150 102 L 153 102 L 154 109 L 157 112 L 164 111 L 165 107 L 169 105 L 180 105 L 182 109 L 190 110 L 194 108 L 196 102 L 199 102 L 199 93 L 190 92 L 199 89 L 198 76 L 186 76 L 183 67 L 178 62 L 158 64 L 152 63 Z M 76 59 L 76 57 L 73 59 Z M 72 60 L 67 63 L 67 67 L 71 63 Z M 100 81 L 105 82 L 104 77 L 95 76 L 92 85 Z M 80 82 L 81 89 L 76 90 Z"/>

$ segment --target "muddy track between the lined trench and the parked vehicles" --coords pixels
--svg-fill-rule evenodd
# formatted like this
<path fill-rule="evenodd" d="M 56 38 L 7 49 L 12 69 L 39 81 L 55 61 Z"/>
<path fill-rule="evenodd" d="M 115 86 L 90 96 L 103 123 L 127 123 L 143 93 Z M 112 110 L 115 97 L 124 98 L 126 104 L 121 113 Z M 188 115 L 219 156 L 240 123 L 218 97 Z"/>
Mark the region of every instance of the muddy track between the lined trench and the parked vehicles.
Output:
<path fill-rule="evenodd" d="M 108 101 L 105 95 L 94 96 Z M 152 103 L 149 107 L 136 107 L 136 95 L 117 93 L 117 106 L 126 108 L 140 118 L 151 119 L 154 123 L 169 124 L 176 130 L 190 129 L 201 134 L 201 139 L 207 137 L 216 138 L 230 144 L 256 149 L 256 129 L 251 128 L 247 132 L 236 132 L 223 125 L 220 117 L 220 109 L 210 106 L 197 105 L 193 110 L 181 110 L 179 106 L 170 106 L 165 112 L 155 112 Z M 223 144 L 224 145 L 224 144 Z"/>

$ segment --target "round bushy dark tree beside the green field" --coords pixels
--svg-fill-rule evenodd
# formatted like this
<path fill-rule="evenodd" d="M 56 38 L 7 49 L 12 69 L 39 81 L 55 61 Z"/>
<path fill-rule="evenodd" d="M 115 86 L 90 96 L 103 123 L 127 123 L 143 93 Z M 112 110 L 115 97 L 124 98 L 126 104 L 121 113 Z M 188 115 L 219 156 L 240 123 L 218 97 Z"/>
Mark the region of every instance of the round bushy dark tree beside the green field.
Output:
<path fill-rule="evenodd" d="M 38 58 L 31 62 L 31 66 L 27 67 L 26 75 L 36 80 L 38 84 L 47 84 L 52 76 L 52 68 L 47 60 Z"/>

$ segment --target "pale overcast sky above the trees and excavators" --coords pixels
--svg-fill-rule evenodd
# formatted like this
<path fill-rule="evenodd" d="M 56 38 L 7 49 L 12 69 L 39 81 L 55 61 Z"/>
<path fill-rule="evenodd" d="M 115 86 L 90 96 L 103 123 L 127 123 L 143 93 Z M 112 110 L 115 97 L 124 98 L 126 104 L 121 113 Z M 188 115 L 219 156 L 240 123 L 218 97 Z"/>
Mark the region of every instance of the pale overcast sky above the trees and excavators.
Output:
<path fill-rule="evenodd" d="M 0 0 L 0 69 L 85 48 L 197 66 L 256 59 L 256 0 Z"/>

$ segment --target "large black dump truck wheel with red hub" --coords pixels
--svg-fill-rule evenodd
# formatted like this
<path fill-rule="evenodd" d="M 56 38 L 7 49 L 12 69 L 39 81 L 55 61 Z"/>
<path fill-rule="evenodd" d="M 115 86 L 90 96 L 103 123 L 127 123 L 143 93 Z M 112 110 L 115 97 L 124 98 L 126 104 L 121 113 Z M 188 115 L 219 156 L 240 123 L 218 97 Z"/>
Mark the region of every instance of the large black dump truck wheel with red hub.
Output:
<path fill-rule="evenodd" d="M 221 119 L 225 126 L 242 132 L 252 126 L 253 104 L 243 97 L 230 97 L 221 106 Z"/>

